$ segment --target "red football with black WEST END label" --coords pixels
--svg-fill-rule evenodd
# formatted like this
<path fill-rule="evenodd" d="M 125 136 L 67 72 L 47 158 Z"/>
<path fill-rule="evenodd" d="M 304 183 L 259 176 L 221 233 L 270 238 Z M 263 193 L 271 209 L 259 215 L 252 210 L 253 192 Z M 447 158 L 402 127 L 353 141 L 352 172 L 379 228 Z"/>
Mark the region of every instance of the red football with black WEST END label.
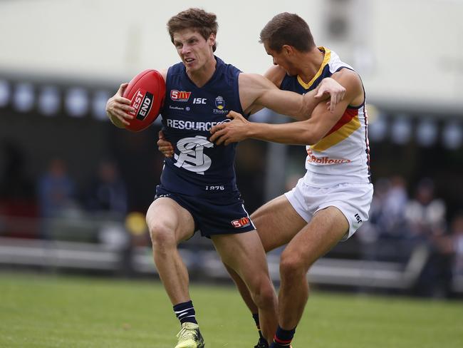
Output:
<path fill-rule="evenodd" d="M 165 97 L 165 81 L 159 71 L 145 70 L 132 78 L 123 93 L 124 98 L 132 101 L 130 106 L 136 109 L 130 125 L 125 129 L 138 132 L 150 126 L 159 116 Z"/>

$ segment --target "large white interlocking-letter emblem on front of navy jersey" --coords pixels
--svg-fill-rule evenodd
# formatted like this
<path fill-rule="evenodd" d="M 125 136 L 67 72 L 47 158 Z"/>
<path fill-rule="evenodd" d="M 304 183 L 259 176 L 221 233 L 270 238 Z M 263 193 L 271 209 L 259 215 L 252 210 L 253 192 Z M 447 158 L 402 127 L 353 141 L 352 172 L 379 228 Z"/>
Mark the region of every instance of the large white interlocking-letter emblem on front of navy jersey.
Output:
<path fill-rule="evenodd" d="M 177 148 L 180 150 L 180 155 L 177 155 L 177 153 L 174 155 L 175 160 L 177 160 L 175 166 L 204 175 L 204 172 L 212 164 L 211 158 L 204 155 L 204 147 L 213 148 L 214 143 L 211 143 L 202 135 L 178 140 Z"/>

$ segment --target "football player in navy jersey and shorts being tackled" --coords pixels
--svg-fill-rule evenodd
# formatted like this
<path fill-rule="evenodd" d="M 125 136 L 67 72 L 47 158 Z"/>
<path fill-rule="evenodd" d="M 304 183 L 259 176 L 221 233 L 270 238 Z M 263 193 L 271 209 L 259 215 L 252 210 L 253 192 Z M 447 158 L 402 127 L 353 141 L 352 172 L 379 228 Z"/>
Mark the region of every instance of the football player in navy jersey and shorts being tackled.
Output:
<path fill-rule="evenodd" d="M 210 131 L 226 122 L 231 111 L 247 116 L 262 107 L 306 119 L 328 94 L 335 105 L 344 88 L 328 78 L 301 96 L 279 90 L 263 76 L 241 73 L 214 56 L 216 16 L 201 9 L 173 16 L 167 29 L 182 60 L 161 71 L 166 82 L 163 132 L 175 153 L 165 159 L 146 220 L 157 271 L 182 325 L 176 348 L 204 347 L 187 268 L 177 250 L 195 231 L 211 238 L 222 262 L 243 280 L 259 312 L 262 333 L 271 339 L 277 327 L 276 294 L 261 240 L 236 188 L 236 145 L 214 145 Z M 126 87 L 123 83 L 107 103 L 108 117 L 116 126 L 132 119 L 130 100 L 122 97 Z"/>

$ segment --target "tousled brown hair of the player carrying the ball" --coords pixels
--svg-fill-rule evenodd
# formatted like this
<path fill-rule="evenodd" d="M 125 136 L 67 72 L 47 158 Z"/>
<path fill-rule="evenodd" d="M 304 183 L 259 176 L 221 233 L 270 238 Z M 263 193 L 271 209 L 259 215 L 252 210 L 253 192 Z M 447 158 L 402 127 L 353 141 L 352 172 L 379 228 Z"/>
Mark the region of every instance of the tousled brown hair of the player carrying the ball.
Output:
<path fill-rule="evenodd" d="M 217 16 L 215 14 L 196 8 L 182 11 L 167 22 L 167 30 L 169 31 L 172 44 L 174 43 L 174 33 L 176 31 L 194 29 L 207 40 L 211 34 L 217 34 L 218 28 L 219 24 L 217 23 Z M 214 44 L 212 50 L 215 51 L 216 48 L 217 44 Z"/>

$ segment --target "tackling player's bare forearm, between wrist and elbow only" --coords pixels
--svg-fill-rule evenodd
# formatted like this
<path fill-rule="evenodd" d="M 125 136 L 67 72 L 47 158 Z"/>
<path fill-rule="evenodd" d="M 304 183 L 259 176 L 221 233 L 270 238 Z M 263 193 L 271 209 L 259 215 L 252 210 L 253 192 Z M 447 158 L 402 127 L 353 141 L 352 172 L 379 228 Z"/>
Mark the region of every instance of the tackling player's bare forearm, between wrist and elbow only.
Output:
<path fill-rule="evenodd" d="M 312 145 L 315 140 L 307 126 L 308 125 L 305 122 L 293 122 L 278 125 L 251 122 L 249 124 L 246 138 L 292 145 Z"/>

